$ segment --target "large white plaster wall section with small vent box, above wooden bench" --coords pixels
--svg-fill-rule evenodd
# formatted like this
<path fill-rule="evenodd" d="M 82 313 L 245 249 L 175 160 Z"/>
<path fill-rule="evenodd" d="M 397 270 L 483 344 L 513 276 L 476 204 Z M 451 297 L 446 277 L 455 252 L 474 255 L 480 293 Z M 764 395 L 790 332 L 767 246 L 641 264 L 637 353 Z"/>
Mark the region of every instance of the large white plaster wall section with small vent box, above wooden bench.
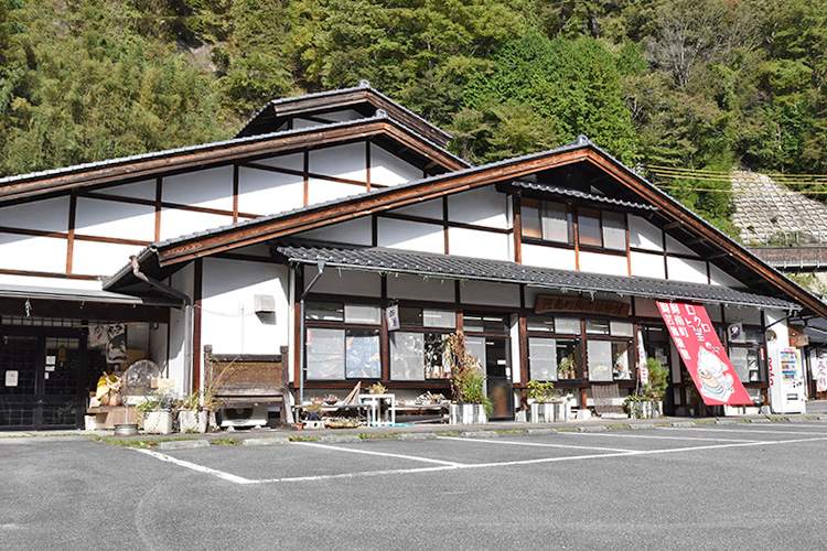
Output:
<path fill-rule="evenodd" d="M 279 354 L 288 344 L 289 268 L 205 259 L 201 342 L 215 354 Z M 256 313 L 256 294 L 273 296 L 275 314 Z"/>

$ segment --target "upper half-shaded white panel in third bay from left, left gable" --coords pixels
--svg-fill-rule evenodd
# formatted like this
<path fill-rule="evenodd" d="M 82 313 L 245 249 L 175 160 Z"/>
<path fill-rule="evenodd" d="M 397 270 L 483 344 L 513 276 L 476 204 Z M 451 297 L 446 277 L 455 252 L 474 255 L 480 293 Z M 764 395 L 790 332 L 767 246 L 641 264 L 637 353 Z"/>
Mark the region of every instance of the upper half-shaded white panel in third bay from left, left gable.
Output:
<path fill-rule="evenodd" d="M 233 168 L 198 170 L 163 179 L 165 203 L 233 212 Z"/>

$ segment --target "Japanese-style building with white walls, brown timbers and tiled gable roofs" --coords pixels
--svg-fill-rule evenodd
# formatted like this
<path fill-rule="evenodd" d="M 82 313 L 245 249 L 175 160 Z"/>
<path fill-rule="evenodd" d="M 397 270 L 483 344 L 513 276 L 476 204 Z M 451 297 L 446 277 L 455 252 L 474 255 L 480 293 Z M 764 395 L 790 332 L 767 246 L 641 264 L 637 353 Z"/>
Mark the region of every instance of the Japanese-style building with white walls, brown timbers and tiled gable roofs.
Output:
<path fill-rule="evenodd" d="M 205 349 L 279 356 L 293 401 L 450 395 L 458 331 L 495 419 L 530 379 L 580 409 L 634 392 L 642 352 L 670 370 L 667 413 L 689 413 L 658 301 L 705 311 L 778 410 L 773 363 L 827 317 L 819 298 L 586 137 L 482 166 L 449 141 L 362 83 L 273 100 L 226 141 L 0 180 L 0 429 L 82 426 L 110 363 L 190 393 Z"/>

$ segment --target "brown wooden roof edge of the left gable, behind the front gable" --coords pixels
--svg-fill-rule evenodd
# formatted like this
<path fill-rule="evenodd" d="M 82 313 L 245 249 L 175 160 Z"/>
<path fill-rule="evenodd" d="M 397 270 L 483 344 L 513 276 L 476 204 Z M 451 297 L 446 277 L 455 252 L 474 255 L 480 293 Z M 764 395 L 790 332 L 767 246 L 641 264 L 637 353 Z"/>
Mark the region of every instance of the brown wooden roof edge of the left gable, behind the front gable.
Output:
<path fill-rule="evenodd" d="M 379 137 L 395 141 L 400 148 L 416 151 L 429 159 L 432 166 L 439 165 L 452 171 L 469 166 L 462 159 L 429 142 L 398 121 L 378 116 L 9 176 L 0 179 L 0 204 L 78 187 L 135 182 L 172 171 L 203 170 L 271 154 Z"/>

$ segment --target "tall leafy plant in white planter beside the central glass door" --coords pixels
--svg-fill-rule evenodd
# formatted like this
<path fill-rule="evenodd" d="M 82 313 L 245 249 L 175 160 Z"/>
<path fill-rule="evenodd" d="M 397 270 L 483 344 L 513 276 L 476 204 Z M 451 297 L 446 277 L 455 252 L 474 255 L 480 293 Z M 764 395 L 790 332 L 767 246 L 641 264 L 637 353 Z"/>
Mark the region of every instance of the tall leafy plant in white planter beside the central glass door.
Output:
<path fill-rule="evenodd" d="M 493 406 L 485 396 L 485 375 L 480 358 L 469 354 L 465 335 L 451 334 L 447 339 L 447 360 L 451 369 L 450 407 L 451 424 L 484 424 L 493 412 Z"/>

